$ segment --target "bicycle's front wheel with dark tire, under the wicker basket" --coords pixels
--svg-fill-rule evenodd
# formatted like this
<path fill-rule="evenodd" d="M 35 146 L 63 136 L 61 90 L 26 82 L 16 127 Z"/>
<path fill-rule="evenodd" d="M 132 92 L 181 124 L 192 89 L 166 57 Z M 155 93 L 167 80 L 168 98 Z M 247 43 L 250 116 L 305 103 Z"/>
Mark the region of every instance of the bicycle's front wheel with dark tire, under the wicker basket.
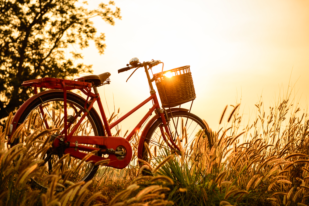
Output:
<path fill-rule="evenodd" d="M 168 113 L 168 117 L 170 118 L 169 128 L 170 132 L 174 135 L 176 134 L 176 130 L 178 135 L 180 136 L 181 141 L 181 148 L 184 150 L 182 155 L 187 155 L 188 158 L 194 158 L 194 161 L 198 161 L 199 151 L 195 149 L 195 152 L 192 153 L 194 144 L 197 144 L 194 141 L 196 138 L 199 137 L 203 130 L 206 130 L 205 123 L 200 117 L 197 117 L 195 114 L 189 113 L 187 111 L 174 111 Z M 187 121 L 188 118 L 188 121 Z M 174 119 L 174 122 L 173 122 Z M 178 121 L 177 121 L 178 120 Z M 185 137 L 184 130 L 181 129 L 181 122 L 184 122 L 183 125 L 186 126 L 187 131 L 187 138 Z M 175 123 L 175 124 L 174 124 Z M 177 124 L 178 123 L 178 124 Z M 168 154 L 177 154 L 174 150 L 167 145 L 167 143 L 162 138 L 162 134 L 160 131 L 160 126 L 162 124 L 162 119 L 158 118 L 148 130 L 147 134 L 145 135 L 144 144 L 142 147 L 142 159 L 148 162 L 153 168 L 162 161 Z M 173 128 L 173 129 L 172 129 Z M 176 129 L 175 129 L 176 128 Z M 174 135 L 175 138 L 175 135 Z M 187 139 L 187 140 L 186 140 Z M 145 142 L 148 144 L 148 149 L 150 150 L 151 156 L 149 155 L 148 149 L 145 146 Z M 179 141 L 174 141 L 177 146 L 180 146 Z M 189 151 L 190 150 L 190 151 Z M 189 155 L 189 156 L 188 156 Z M 176 158 L 180 160 L 180 154 L 178 151 L 178 155 Z M 143 175 L 152 175 L 150 169 L 144 169 L 142 171 Z"/>

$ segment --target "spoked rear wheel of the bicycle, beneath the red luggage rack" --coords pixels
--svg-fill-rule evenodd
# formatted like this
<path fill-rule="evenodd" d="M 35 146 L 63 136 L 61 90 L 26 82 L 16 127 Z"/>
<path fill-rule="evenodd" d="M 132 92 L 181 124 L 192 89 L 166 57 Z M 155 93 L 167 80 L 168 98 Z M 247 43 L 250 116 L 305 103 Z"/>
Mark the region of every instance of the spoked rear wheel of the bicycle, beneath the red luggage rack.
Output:
<path fill-rule="evenodd" d="M 67 92 L 67 117 L 72 115 L 73 117 L 78 115 L 77 120 L 68 128 L 68 133 L 74 128 L 74 125 L 78 122 L 80 117 L 85 113 L 84 105 L 85 100 L 82 97 L 79 97 L 73 93 Z M 89 105 L 89 104 L 87 104 Z M 32 113 L 32 117 L 31 114 Z M 31 118 L 31 121 L 29 121 Z M 75 131 L 74 135 L 88 135 L 88 136 L 105 136 L 104 128 L 102 123 L 99 120 L 98 114 L 92 108 L 83 122 L 80 124 L 78 129 Z M 49 138 L 49 142 L 53 142 L 55 138 L 61 135 L 61 131 L 64 129 L 64 98 L 63 92 L 54 92 L 47 93 L 40 98 L 36 98 L 34 101 L 30 103 L 27 109 L 21 115 L 18 124 L 22 124 L 25 122 L 24 131 L 27 131 L 27 136 L 33 134 L 36 130 L 44 131 L 46 129 L 58 129 L 52 133 L 45 134 L 40 136 L 39 139 L 45 141 Z M 64 135 L 63 135 L 64 136 Z M 64 138 L 64 137 L 63 137 Z M 24 142 L 22 138 L 19 138 L 18 142 Z M 14 142 L 15 144 L 17 141 Z M 37 141 L 31 142 L 32 147 L 38 146 Z M 93 145 L 88 145 L 93 146 Z M 59 151 L 59 148 L 51 147 L 47 150 L 46 153 L 40 154 L 35 160 L 43 159 L 44 163 L 40 166 L 46 166 L 46 170 L 41 172 L 43 175 L 37 175 L 32 178 L 32 182 L 37 187 L 48 187 L 49 182 L 44 183 L 43 179 L 47 175 L 51 174 L 56 170 L 54 168 L 54 164 L 61 158 L 62 154 Z M 87 152 L 86 152 L 87 153 Z M 100 155 L 102 156 L 102 155 Z M 74 157 L 69 157 L 68 159 L 64 159 L 60 162 L 60 169 L 57 167 L 57 170 L 66 170 L 70 172 L 64 174 L 63 171 L 57 171 L 59 175 L 59 183 L 63 185 L 68 185 L 63 182 L 64 179 L 76 183 L 79 181 L 89 181 L 92 179 L 98 170 L 98 166 L 95 166 L 92 163 L 86 163 L 83 167 L 79 167 L 78 171 L 75 171 L 75 168 L 81 160 L 76 159 Z M 59 164 L 58 164 L 59 165 Z M 70 174 L 69 176 L 67 176 Z M 63 187 L 56 187 L 56 190 L 62 190 Z"/>

